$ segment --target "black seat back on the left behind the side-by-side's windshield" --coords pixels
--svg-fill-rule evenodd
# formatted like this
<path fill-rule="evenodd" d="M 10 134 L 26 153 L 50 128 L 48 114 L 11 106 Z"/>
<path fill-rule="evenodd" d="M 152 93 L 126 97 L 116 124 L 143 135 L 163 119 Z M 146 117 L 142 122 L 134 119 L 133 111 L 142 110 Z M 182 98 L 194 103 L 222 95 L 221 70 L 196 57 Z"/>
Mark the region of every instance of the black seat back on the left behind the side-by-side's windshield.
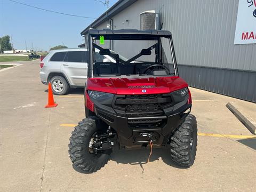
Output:
<path fill-rule="evenodd" d="M 119 74 L 117 63 L 113 62 L 95 62 L 93 65 L 94 75 Z"/>

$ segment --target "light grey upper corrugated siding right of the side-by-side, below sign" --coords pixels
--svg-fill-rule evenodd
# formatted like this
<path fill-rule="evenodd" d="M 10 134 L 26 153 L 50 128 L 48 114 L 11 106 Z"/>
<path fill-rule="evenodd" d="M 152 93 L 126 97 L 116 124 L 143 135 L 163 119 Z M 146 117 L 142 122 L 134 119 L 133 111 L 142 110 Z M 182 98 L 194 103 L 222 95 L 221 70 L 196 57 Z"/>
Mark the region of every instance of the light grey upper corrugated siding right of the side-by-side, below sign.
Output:
<path fill-rule="evenodd" d="M 256 71 L 256 44 L 234 45 L 238 1 L 164 1 L 179 63 Z"/>

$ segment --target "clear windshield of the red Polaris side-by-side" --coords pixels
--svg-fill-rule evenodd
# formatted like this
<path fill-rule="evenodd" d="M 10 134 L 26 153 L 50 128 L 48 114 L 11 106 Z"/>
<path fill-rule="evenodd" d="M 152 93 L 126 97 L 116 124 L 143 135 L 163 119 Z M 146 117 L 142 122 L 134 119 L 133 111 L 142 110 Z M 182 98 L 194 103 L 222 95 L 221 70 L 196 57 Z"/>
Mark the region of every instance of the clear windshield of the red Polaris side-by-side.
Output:
<path fill-rule="evenodd" d="M 172 52 L 168 38 L 158 40 L 107 40 L 92 43 L 93 76 L 173 76 Z M 109 47 L 109 45 L 112 45 Z M 114 50 L 111 50 L 110 48 Z M 100 59 L 109 55 L 111 59 Z M 107 58 L 107 57 L 106 57 Z"/>

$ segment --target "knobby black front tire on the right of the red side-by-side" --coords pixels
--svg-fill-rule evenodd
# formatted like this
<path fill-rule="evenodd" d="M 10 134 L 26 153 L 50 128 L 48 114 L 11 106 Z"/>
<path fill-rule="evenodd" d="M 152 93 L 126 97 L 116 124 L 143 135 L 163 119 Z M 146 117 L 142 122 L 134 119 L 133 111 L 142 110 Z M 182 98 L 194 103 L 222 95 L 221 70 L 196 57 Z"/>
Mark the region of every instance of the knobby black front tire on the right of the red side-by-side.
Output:
<path fill-rule="evenodd" d="M 193 165 L 196 157 L 197 124 L 196 117 L 189 114 L 185 122 L 171 137 L 171 158 L 183 167 Z"/>

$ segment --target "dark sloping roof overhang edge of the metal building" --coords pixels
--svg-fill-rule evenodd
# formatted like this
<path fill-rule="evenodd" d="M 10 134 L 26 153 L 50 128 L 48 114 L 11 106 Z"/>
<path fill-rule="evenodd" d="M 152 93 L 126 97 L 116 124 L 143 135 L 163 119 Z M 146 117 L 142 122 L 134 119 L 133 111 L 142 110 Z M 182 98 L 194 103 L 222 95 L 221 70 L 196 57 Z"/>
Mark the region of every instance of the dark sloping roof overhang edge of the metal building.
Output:
<path fill-rule="evenodd" d="M 100 15 L 100 17 L 98 19 L 96 19 L 95 21 L 93 21 L 91 23 L 91 25 L 89 25 L 88 27 L 86 27 L 82 32 L 81 35 L 86 35 L 89 31 L 90 28 L 96 28 L 98 27 L 102 22 L 107 21 L 108 19 L 111 19 L 111 17 L 113 17 L 114 15 L 116 15 L 117 13 L 123 11 L 126 7 L 130 6 L 131 4 L 133 4 L 134 2 L 136 2 L 137 0 L 119 0 L 118 2 L 116 2 L 116 4 L 114 4 L 113 6 L 111 6 L 105 13 L 103 13 L 102 15 Z"/>

